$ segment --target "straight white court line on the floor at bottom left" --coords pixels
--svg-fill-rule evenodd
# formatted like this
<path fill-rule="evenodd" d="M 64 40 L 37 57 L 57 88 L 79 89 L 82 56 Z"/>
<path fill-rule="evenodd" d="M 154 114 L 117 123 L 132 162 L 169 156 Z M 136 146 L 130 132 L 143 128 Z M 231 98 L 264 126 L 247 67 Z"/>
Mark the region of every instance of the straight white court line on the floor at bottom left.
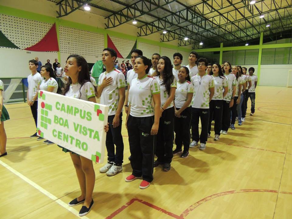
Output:
<path fill-rule="evenodd" d="M 43 187 L 39 186 L 38 184 L 36 184 L 32 180 L 28 179 L 26 176 L 22 175 L 20 172 L 16 171 L 15 169 L 13 169 L 12 167 L 10 167 L 9 165 L 7 165 L 6 163 L 4 163 L 1 160 L 0 160 L 0 164 L 2 166 L 4 166 L 6 169 L 8 169 L 10 172 L 14 173 L 16 176 L 18 176 L 19 178 L 23 179 L 25 182 L 27 182 L 28 184 L 30 184 L 31 186 L 33 186 L 34 188 L 36 188 L 37 190 L 39 190 L 41 193 L 43 193 L 44 195 L 46 195 L 47 197 L 49 197 L 51 200 L 53 200 L 57 204 L 61 205 L 62 207 L 64 207 L 68 211 L 70 211 L 72 214 L 74 214 L 77 217 L 79 217 L 79 212 L 77 210 L 75 210 L 74 208 L 69 207 L 68 206 L 68 203 L 65 203 L 62 200 L 58 199 L 52 193 L 48 192 L 46 189 L 44 189 Z M 83 216 L 82 218 L 89 219 L 86 216 Z"/>

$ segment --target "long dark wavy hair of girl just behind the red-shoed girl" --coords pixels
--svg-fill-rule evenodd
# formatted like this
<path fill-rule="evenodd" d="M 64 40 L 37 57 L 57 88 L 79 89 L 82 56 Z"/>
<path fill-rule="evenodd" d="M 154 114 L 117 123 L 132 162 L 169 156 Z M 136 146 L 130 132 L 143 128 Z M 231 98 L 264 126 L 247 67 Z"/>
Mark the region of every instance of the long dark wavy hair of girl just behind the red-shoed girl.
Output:
<path fill-rule="evenodd" d="M 171 61 L 170 61 L 169 57 L 162 56 L 160 59 L 164 60 L 164 69 L 162 72 L 162 78 L 163 78 L 162 85 L 165 85 L 165 89 L 167 91 L 167 94 L 169 95 L 170 86 L 171 86 L 173 79 L 174 79 L 174 76 L 172 74 L 172 65 L 171 65 Z M 157 72 L 157 76 L 160 76 L 161 73 L 158 72 L 157 67 L 156 67 L 156 72 Z"/>

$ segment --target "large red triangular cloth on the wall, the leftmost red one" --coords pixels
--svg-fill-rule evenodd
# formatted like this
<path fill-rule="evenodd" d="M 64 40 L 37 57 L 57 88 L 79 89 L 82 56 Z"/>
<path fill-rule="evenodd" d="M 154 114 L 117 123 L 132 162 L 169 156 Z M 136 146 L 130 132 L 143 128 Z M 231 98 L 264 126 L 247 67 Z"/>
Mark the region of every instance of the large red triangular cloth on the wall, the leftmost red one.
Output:
<path fill-rule="evenodd" d="M 59 51 L 56 24 L 51 27 L 48 33 L 35 45 L 26 48 L 25 50 L 46 52 L 46 51 Z"/>

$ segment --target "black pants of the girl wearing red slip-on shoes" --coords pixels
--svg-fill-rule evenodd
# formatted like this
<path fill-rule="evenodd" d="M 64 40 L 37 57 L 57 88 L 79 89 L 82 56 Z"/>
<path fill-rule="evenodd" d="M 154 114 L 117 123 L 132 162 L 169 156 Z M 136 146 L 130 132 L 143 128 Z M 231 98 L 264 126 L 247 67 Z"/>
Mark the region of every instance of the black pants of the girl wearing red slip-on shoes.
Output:
<path fill-rule="evenodd" d="M 156 135 L 151 135 L 154 116 L 134 117 L 129 115 L 127 121 L 129 145 L 131 152 L 132 174 L 153 180 L 153 161 L 156 148 Z"/>

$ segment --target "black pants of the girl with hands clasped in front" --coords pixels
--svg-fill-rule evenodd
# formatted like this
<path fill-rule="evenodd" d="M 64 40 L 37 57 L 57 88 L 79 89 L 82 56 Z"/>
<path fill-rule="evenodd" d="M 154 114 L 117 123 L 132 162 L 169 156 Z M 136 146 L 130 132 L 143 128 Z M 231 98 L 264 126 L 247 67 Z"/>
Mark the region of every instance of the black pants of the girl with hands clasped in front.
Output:
<path fill-rule="evenodd" d="M 180 118 L 175 117 L 174 131 L 176 133 L 176 149 L 182 149 L 183 151 L 189 151 L 190 143 L 190 126 L 192 120 L 192 107 L 187 107 L 182 113 L 180 113 Z M 176 108 L 179 110 L 179 108 Z"/>

